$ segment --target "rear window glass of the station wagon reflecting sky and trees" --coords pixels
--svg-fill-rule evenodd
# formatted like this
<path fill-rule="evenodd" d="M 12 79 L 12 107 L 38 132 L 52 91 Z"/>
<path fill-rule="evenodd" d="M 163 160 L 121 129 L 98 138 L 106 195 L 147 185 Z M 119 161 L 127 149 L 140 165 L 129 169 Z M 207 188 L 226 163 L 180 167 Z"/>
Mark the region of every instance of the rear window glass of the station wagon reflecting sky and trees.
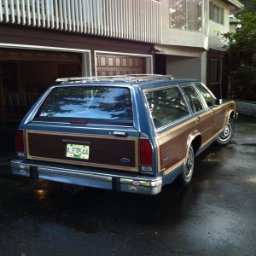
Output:
<path fill-rule="evenodd" d="M 37 118 L 131 121 L 130 90 L 107 86 L 56 87 L 50 92 Z"/>

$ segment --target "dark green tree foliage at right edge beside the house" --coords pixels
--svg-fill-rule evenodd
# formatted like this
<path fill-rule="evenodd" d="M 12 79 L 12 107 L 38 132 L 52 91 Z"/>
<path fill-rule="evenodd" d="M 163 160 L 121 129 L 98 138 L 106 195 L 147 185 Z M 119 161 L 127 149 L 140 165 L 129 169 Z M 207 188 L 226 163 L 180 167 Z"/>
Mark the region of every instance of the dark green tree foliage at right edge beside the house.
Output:
<path fill-rule="evenodd" d="M 223 36 L 229 54 L 227 72 L 230 79 L 229 96 L 232 99 L 256 101 L 256 15 L 243 12 L 236 32 Z"/>

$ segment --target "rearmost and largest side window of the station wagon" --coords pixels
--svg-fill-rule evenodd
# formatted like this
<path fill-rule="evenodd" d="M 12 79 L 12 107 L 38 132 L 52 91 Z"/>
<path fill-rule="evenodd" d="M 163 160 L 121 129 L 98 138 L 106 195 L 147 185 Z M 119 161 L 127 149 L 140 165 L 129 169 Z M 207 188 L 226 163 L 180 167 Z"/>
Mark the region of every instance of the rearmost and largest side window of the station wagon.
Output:
<path fill-rule="evenodd" d="M 155 129 L 189 115 L 189 109 L 177 87 L 146 92 Z"/>

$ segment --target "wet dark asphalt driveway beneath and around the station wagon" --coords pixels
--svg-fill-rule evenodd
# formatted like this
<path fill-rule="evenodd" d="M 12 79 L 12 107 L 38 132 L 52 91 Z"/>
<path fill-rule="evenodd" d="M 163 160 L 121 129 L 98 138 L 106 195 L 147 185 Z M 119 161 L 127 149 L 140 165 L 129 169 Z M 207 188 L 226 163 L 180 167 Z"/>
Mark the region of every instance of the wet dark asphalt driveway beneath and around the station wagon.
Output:
<path fill-rule="evenodd" d="M 189 188 L 154 196 L 14 177 L 1 147 L 1 256 L 256 255 L 256 118 L 196 160 Z"/>

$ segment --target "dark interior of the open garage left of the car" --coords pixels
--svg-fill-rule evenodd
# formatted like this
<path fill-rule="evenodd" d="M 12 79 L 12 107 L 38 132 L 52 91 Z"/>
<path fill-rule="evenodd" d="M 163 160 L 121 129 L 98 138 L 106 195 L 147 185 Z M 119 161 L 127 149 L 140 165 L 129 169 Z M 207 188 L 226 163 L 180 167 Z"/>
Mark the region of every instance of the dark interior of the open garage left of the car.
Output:
<path fill-rule="evenodd" d="M 81 65 L 78 53 L 0 49 L 2 122 L 22 119 L 55 79 L 81 76 Z"/>

